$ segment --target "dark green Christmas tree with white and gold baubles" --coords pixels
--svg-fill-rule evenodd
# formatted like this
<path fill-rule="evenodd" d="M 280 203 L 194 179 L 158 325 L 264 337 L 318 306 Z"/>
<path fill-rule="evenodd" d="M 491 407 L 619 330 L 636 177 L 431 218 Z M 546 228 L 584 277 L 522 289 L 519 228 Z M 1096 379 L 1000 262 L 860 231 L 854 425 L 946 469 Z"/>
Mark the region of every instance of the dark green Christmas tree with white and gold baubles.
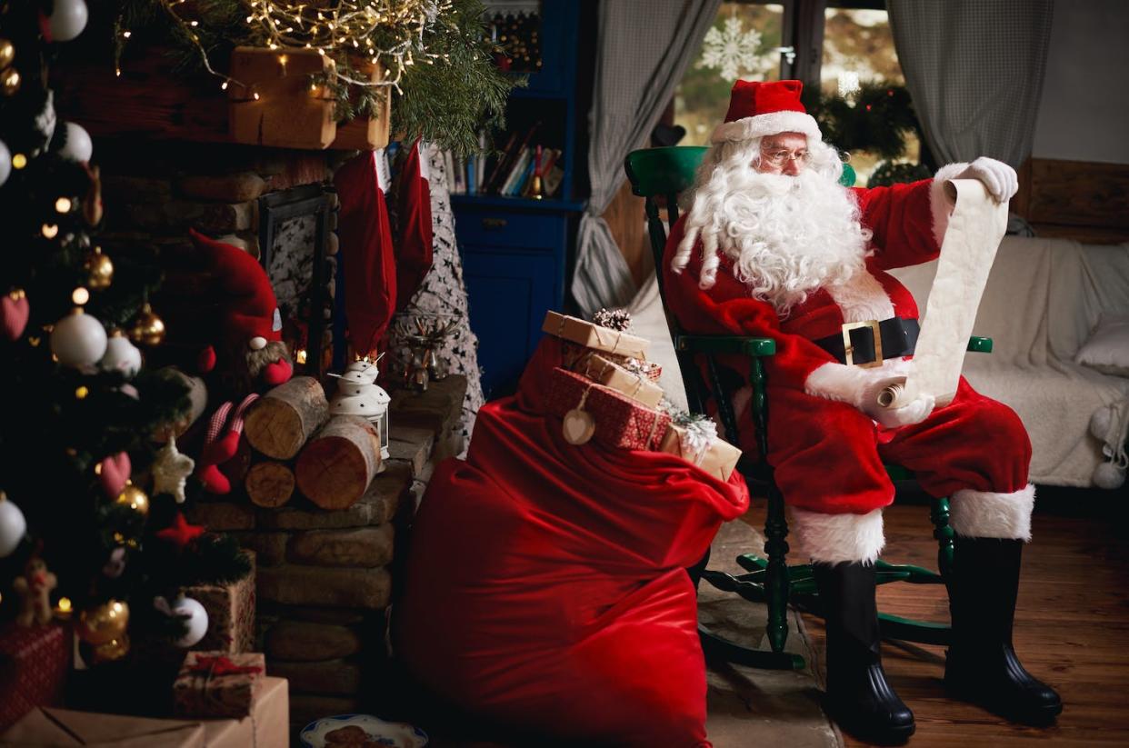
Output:
<path fill-rule="evenodd" d="M 86 20 L 84 0 L 0 1 L 0 617 L 72 613 L 97 665 L 131 637 L 199 641 L 207 614 L 181 592 L 248 565 L 184 519 L 187 378 L 145 366 L 160 271 L 102 252 L 91 140 L 54 111 L 50 62 Z"/>

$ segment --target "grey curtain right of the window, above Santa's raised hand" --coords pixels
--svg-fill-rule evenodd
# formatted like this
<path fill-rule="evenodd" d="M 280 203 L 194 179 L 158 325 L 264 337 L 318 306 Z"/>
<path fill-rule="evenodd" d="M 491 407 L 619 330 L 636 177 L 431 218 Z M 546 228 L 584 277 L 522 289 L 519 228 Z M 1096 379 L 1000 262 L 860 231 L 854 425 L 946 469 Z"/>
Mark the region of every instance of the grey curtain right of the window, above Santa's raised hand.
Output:
<path fill-rule="evenodd" d="M 1031 155 L 1054 0 L 887 0 L 907 88 L 938 164 Z"/>

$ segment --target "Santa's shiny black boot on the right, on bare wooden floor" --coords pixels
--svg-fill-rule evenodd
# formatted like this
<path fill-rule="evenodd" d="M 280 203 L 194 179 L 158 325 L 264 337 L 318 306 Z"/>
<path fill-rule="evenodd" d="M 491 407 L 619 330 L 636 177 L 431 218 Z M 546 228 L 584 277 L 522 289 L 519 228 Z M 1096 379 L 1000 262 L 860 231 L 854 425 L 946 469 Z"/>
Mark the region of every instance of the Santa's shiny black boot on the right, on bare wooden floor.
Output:
<path fill-rule="evenodd" d="M 948 608 L 953 640 L 945 686 L 1014 722 L 1049 724 L 1062 711 L 1054 689 L 1036 680 L 1012 649 L 1022 540 L 957 536 Z"/>

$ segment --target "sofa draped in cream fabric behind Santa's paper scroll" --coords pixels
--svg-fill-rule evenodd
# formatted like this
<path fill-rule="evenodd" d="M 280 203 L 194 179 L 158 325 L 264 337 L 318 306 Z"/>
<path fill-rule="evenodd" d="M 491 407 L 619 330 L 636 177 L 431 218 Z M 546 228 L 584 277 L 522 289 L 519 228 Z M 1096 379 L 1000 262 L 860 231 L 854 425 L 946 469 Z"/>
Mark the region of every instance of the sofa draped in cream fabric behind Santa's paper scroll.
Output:
<path fill-rule="evenodd" d="M 894 272 L 922 314 L 935 272 L 936 263 Z M 1023 420 L 1034 483 L 1093 485 L 1105 457 L 1089 433 L 1091 416 L 1110 406 L 1129 408 L 1129 378 L 1074 362 L 1103 311 L 1129 314 L 1129 244 L 1004 238 L 973 328 L 992 338 L 994 351 L 969 353 L 964 375 Z"/>

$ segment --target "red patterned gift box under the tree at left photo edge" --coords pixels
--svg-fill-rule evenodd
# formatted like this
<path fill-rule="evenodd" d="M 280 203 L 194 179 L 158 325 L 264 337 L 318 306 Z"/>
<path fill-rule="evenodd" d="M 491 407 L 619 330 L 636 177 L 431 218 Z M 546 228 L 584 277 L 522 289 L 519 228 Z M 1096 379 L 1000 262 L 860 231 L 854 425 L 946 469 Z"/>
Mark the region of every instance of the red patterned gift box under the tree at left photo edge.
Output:
<path fill-rule="evenodd" d="M 0 730 L 36 706 L 61 703 L 70 644 L 67 628 L 58 624 L 0 630 Z"/>

